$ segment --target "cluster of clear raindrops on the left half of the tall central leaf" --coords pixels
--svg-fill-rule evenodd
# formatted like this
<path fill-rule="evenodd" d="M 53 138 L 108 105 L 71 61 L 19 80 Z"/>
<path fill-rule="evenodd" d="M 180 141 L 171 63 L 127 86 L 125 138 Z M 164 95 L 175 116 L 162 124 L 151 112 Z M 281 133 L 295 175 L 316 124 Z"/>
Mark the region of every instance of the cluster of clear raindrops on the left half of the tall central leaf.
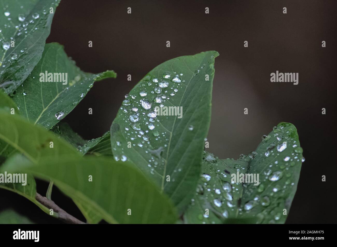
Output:
<path fill-rule="evenodd" d="M 211 68 L 215 56 L 215 54 L 212 55 L 208 61 Z M 202 64 L 197 70 L 198 73 L 205 68 L 206 64 Z M 122 142 L 123 145 L 113 147 L 116 160 L 120 160 L 120 156 L 125 155 L 124 149 L 130 142 L 132 148 L 142 149 L 141 153 L 144 154 L 145 151 L 148 155 L 145 156 L 151 174 L 162 170 L 164 157 L 153 157 L 152 151 L 156 150 L 155 148 L 167 148 L 174 118 L 169 119 L 170 116 L 158 114 L 158 109 L 179 105 L 188 84 L 186 80 L 190 81 L 191 76 L 193 75 L 185 76 L 179 71 L 163 71 L 158 74 L 151 72 L 129 94 L 125 95 L 117 116 L 123 120 L 119 121 L 123 137 L 116 136 L 116 143 Z M 187 126 L 186 130 L 195 131 L 193 125 Z M 174 170 L 175 172 L 179 172 L 179 169 Z M 171 181 L 174 181 L 174 178 Z"/>

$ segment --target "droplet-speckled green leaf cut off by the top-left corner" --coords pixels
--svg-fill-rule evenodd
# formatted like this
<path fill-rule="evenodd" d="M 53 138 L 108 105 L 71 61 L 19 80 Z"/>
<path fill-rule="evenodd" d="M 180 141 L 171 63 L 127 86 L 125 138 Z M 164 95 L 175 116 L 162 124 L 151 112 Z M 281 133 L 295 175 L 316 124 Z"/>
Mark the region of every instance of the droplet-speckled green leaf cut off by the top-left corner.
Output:
<path fill-rule="evenodd" d="M 2 0 L 0 7 L 0 88 L 12 93 L 41 58 L 60 1 Z M 13 43 L 14 42 L 14 43 Z"/>

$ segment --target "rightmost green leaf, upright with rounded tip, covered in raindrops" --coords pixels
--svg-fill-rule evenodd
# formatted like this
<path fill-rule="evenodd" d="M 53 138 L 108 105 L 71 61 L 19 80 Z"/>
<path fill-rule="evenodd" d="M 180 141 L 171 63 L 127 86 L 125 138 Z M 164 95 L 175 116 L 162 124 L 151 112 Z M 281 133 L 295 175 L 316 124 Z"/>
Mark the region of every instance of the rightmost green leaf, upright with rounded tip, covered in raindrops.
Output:
<path fill-rule="evenodd" d="M 257 223 L 284 223 L 296 193 L 303 159 L 297 129 L 291 123 L 279 123 L 255 152 L 247 172 L 259 174 L 260 185 L 246 184 L 241 199 L 242 217 L 258 217 Z"/>

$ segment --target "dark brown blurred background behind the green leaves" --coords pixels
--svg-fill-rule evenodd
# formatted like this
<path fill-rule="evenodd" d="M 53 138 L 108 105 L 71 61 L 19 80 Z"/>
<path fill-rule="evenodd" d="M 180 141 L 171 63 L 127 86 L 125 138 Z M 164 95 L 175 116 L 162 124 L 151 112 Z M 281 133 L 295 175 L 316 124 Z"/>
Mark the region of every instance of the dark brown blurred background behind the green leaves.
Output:
<path fill-rule="evenodd" d="M 99 137 L 109 130 L 124 95 L 155 66 L 177 56 L 216 50 L 220 56 L 215 60 L 207 151 L 237 159 L 255 150 L 261 136 L 279 122 L 293 123 L 306 161 L 286 223 L 337 223 L 336 7 L 336 1 L 308 0 L 63 0 L 47 43 L 63 44 L 83 71 L 118 74 L 117 79 L 95 83 L 63 121 L 86 139 Z M 270 82 L 276 70 L 299 73 L 299 84 Z M 128 74 L 132 81 L 127 81 Z M 88 108 L 93 115 L 88 115 Z M 47 184 L 39 182 L 37 189 L 43 194 Z M 1 194 L 0 199 L 7 199 L 1 200 L 2 207 L 15 204 L 22 214 L 29 210 L 36 222 L 59 222 L 23 197 Z M 71 200 L 55 189 L 53 199 L 83 219 Z"/>

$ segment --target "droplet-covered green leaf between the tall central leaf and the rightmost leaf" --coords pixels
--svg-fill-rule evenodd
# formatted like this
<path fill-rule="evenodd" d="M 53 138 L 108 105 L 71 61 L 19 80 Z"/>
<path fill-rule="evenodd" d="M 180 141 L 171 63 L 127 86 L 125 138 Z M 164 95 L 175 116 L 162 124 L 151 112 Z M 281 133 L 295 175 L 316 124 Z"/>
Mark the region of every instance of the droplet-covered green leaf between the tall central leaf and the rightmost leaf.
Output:
<path fill-rule="evenodd" d="M 204 152 L 202 174 L 191 205 L 184 214 L 185 223 L 224 223 L 239 214 L 243 186 L 231 183 L 231 174 L 245 172 L 248 163 L 220 160 Z"/>

